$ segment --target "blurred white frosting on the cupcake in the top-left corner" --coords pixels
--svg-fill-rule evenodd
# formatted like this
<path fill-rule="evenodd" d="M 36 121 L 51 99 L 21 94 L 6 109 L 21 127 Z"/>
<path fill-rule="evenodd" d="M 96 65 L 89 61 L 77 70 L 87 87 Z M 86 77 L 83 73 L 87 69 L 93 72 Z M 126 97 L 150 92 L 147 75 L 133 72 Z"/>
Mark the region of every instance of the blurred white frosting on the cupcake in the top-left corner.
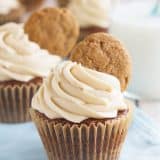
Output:
<path fill-rule="evenodd" d="M 20 6 L 18 0 L 0 0 L 0 14 L 8 14 Z"/>

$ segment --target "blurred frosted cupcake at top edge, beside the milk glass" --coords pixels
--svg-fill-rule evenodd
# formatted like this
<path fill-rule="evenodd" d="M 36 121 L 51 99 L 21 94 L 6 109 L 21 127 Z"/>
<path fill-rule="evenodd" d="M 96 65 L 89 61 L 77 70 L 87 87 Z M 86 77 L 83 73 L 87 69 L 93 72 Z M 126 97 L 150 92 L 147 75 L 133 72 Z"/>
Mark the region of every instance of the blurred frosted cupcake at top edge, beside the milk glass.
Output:
<path fill-rule="evenodd" d="M 80 25 L 80 38 L 96 32 L 107 32 L 109 25 L 109 0 L 71 0 L 67 8 L 72 11 Z"/>

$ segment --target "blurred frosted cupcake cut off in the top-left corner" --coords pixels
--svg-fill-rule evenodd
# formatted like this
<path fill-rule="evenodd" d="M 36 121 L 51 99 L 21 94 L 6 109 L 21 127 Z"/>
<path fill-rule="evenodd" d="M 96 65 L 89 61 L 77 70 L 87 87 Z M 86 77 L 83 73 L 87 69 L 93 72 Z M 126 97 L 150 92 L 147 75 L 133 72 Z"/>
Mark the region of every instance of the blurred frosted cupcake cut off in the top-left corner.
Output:
<path fill-rule="evenodd" d="M 0 24 L 19 22 L 24 11 L 18 0 L 0 0 Z"/>

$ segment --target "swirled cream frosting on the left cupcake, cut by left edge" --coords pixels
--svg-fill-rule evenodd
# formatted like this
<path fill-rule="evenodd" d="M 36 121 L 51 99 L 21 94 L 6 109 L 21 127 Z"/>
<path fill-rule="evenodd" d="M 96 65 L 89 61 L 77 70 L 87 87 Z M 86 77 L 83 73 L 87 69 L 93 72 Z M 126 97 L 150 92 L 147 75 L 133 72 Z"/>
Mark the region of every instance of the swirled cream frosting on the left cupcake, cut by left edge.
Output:
<path fill-rule="evenodd" d="M 8 23 L 0 27 L 0 81 L 27 82 L 46 77 L 60 60 L 29 41 L 23 25 Z"/>

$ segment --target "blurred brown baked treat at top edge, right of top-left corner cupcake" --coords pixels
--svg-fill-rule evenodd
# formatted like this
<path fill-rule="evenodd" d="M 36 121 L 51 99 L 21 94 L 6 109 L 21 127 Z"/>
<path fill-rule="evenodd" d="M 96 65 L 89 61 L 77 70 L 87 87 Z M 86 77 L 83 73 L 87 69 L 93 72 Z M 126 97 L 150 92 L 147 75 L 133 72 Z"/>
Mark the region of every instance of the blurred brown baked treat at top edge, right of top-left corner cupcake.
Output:
<path fill-rule="evenodd" d="M 31 11 L 40 7 L 44 0 L 19 0 L 22 5 L 25 6 L 26 10 Z"/>

